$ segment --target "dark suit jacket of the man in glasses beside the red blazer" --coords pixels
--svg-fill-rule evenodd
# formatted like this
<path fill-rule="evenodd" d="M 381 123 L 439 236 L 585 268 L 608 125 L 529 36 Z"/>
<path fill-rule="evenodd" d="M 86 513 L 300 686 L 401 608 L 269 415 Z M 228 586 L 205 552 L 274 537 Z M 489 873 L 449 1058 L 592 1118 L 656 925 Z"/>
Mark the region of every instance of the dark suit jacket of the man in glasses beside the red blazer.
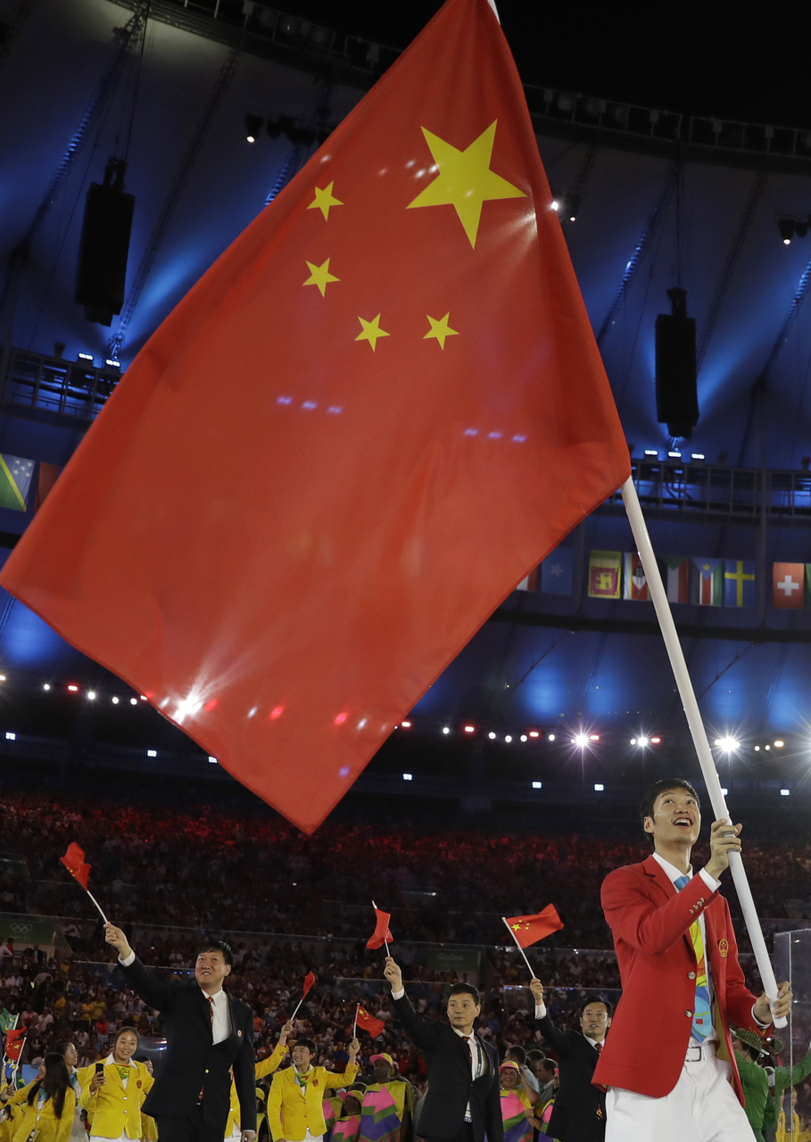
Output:
<path fill-rule="evenodd" d="M 602 1142 L 605 1094 L 592 1085 L 600 1055 L 579 1031 L 559 1031 L 548 1013 L 538 1027 L 557 1055 L 559 1086 L 549 1134 L 560 1142 Z"/>

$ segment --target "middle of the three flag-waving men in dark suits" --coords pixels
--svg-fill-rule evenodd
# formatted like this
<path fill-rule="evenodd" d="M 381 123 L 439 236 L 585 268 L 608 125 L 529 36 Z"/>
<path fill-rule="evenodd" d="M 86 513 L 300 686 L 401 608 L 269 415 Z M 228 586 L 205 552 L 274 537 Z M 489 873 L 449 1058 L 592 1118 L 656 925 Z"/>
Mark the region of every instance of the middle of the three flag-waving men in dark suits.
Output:
<path fill-rule="evenodd" d="M 384 975 L 392 984 L 394 1011 L 406 1034 L 425 1055 L 428 1093 L 419 1117 L 426 1142 L 504 1142 L 498 1054 L 475 1035 L 482 1010 L 479 992 L 457 983 L 448 996 L 448 1023 L 418 1015 L 403 989 L 400 968 L 391 956 Z"/>

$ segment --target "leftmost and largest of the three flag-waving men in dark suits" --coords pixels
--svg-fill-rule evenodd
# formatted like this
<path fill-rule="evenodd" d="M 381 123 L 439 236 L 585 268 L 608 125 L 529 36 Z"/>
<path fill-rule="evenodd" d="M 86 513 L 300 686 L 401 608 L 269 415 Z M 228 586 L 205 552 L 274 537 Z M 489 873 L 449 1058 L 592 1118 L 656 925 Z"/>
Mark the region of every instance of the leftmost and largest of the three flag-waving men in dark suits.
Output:
<path fill-rule="evenodd" d="M 166 1060 L 143 1108 L 155 1119 L 161 1142 L 223 1142 L 232 1068 L 241 1142 L 254 1142 L 254 1013 L 223 990 L 233 963 L 228 944 L 202 943 L 194 979 L 169 981 L 144 967 L 121 928 L 107 924 L 105 934 L 118 950 L 129 987 L 163 1015 Z"/>

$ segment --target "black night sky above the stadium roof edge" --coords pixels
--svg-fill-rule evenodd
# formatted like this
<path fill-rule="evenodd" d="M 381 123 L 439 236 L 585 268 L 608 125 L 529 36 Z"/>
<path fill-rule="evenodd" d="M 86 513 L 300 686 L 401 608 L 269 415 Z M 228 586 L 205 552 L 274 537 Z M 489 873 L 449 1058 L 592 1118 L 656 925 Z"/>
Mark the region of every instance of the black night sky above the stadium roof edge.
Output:
<path fill-rule="evenodd" d="M 437 0 L 287 0 L 288 11 L 406 47 Z M 781 0 L 500 0 L 524 82 L 660 110 L 811 128 L 811 42 Z"/>

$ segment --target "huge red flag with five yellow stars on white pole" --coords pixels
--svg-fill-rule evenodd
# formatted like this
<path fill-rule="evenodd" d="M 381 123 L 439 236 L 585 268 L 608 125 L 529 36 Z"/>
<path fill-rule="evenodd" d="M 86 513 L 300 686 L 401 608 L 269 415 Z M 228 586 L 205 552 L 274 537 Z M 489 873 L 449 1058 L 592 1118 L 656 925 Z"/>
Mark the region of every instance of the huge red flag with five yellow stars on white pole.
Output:
<path fill-rule="evenodd" d="M 448 0 L 151 338 L 1 581 L 312 830 L 628 474 L 515 65 Z"/>

